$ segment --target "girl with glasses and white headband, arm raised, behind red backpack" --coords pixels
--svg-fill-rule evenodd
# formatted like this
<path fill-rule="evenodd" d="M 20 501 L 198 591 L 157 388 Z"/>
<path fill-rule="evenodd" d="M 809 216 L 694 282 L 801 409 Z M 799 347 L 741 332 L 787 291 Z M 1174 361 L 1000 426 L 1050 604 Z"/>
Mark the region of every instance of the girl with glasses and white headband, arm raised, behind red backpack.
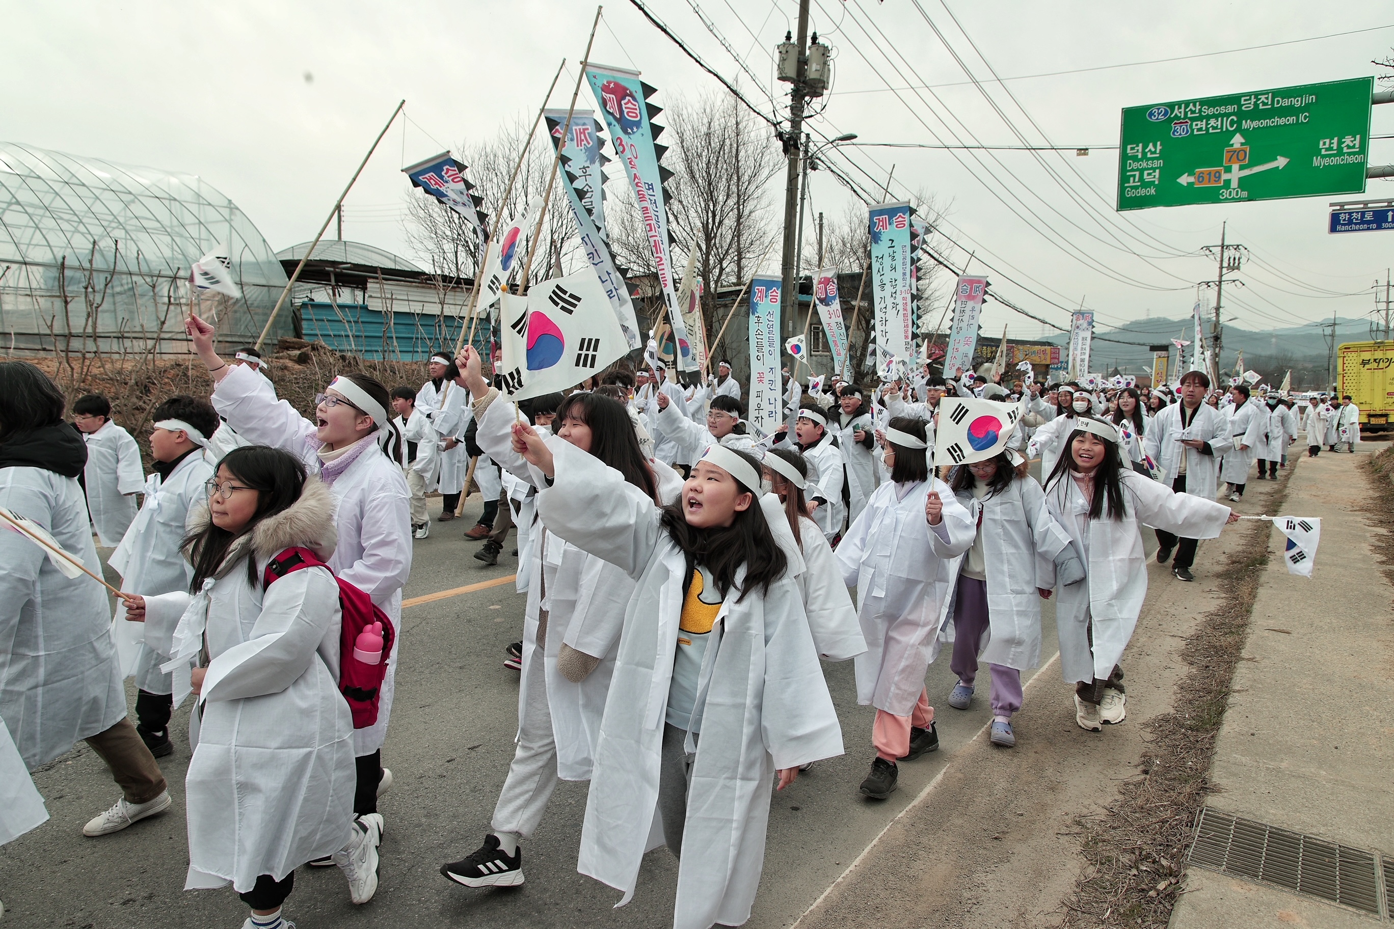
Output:
<path fill-rule="evenodd" d="M 388 389 L 364 375 L 335 377 L 311 422 L 276 400 L 265 377 L 245 366 L 229 369 L 213 351 L 215 333 L 206 322 L 190 316 L 184 330 L 213 379 L 212 401 L 219 415 L 243 439 L 296 455 L 333 490 L 339 545 L 329 568 L 372 598 L 397 630 L 378 721 L 353 734 L 360 780 L 354 812 L 376 813 L 378 794 L 392 784 L 392 773 L 382 767 L 382 742 L 401 653 L 401 588 L 411 574 L 411 492 L 401 475 L 401 436 L 389 419 Z"/>

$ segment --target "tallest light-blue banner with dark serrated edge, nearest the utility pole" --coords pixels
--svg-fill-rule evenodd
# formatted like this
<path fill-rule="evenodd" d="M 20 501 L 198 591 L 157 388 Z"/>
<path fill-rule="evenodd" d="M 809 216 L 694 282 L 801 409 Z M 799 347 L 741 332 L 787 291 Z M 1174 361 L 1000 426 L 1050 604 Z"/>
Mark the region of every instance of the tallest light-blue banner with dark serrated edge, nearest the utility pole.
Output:
<path fill-rule="evenodd" d="M 650 123 L 647 103 L 652 88 L 638 79 L 638 71 L 605 65 L 587 67 L 585 79 L 605 114 L 615 155 L 625 167 L 625 174 L 634 189 L 648 247 L 654 252 L 654 272 L 664 292 L 668 322 L 673 329 L 675 343 L 683 345 L 690 340 L 677 306 L 677 291 L 673 284 L 675 272 L 668 244 L 668 210 L 664 205 L 664 175 L 658 166 L 659 146 L 654 142 L 654 127 Z M 697 368 L 690 345 L 677 354 L 676 362 L 679 370 Z"/>

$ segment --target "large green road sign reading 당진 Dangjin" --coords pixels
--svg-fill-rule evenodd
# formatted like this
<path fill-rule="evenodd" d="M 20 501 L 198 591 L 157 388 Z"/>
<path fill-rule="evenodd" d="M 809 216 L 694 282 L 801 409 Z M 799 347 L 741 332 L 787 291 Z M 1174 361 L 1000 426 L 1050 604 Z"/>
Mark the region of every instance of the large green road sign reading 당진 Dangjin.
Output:
<path fill-rule="evenodd" d="M 1365 191 L 1373 78 L 1124 110 L 1118 209 Z"/>

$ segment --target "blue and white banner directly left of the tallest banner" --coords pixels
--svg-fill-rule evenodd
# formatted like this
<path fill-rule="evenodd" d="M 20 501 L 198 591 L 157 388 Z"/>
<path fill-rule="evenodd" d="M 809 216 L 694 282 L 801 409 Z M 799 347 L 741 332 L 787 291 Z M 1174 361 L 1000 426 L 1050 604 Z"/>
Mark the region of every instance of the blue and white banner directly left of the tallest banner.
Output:
<path fill-rule="evenodd" d="M 576 228 L 581 235 L 585 259 L 591 263 L 595 277 L 599 279 L 601 287 L 609 297 L 629 347 L 638 348 L 643 341 L 638 334 L 638 320 L 634 316 L 634 304 L 625 288 L 625 279 L 615 269 L 615 258 L 611 253 L 609 240 L 605 237 L 605 188 L 601 175 L 599 125 L 590 113 L 573 113 L 572 128 L 563 143 L 562 130 L 566 127 L 566 110 L 546 110 L 544 116 L 552 145 L 562 149 L 562 162 L 566 164 L 563 185 L 572 203 Z"/>

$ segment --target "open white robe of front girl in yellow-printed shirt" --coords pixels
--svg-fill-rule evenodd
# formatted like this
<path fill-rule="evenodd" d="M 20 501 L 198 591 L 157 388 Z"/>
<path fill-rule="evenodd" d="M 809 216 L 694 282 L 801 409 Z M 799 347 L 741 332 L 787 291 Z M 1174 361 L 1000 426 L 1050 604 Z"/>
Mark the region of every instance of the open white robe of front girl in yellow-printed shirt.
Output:
<path fill-rule="evenodd" d="M 577 865 L 583 875 L 622 890 L 627 903 L 644 851 L 652 847 L 661 740 L 689 567 L 659 524 L 661 511 L 638 487 L 559 439 L 546 444 L 556 476 L 538 494 L 538 513 L 548 529 L 638 581 L 605 702 Z M 790 567 L 767 593 L 751 592 L 743 600 L 743 572 L 737 574 L 712 625 L 675 929 L 739 926 L 750 918 L 775 770 L 842 754 L 838 717 L 795 581 L 803 560 L 778 497 L 767 494 L 761 507 L 775 538 L 788 539 Z"/>

